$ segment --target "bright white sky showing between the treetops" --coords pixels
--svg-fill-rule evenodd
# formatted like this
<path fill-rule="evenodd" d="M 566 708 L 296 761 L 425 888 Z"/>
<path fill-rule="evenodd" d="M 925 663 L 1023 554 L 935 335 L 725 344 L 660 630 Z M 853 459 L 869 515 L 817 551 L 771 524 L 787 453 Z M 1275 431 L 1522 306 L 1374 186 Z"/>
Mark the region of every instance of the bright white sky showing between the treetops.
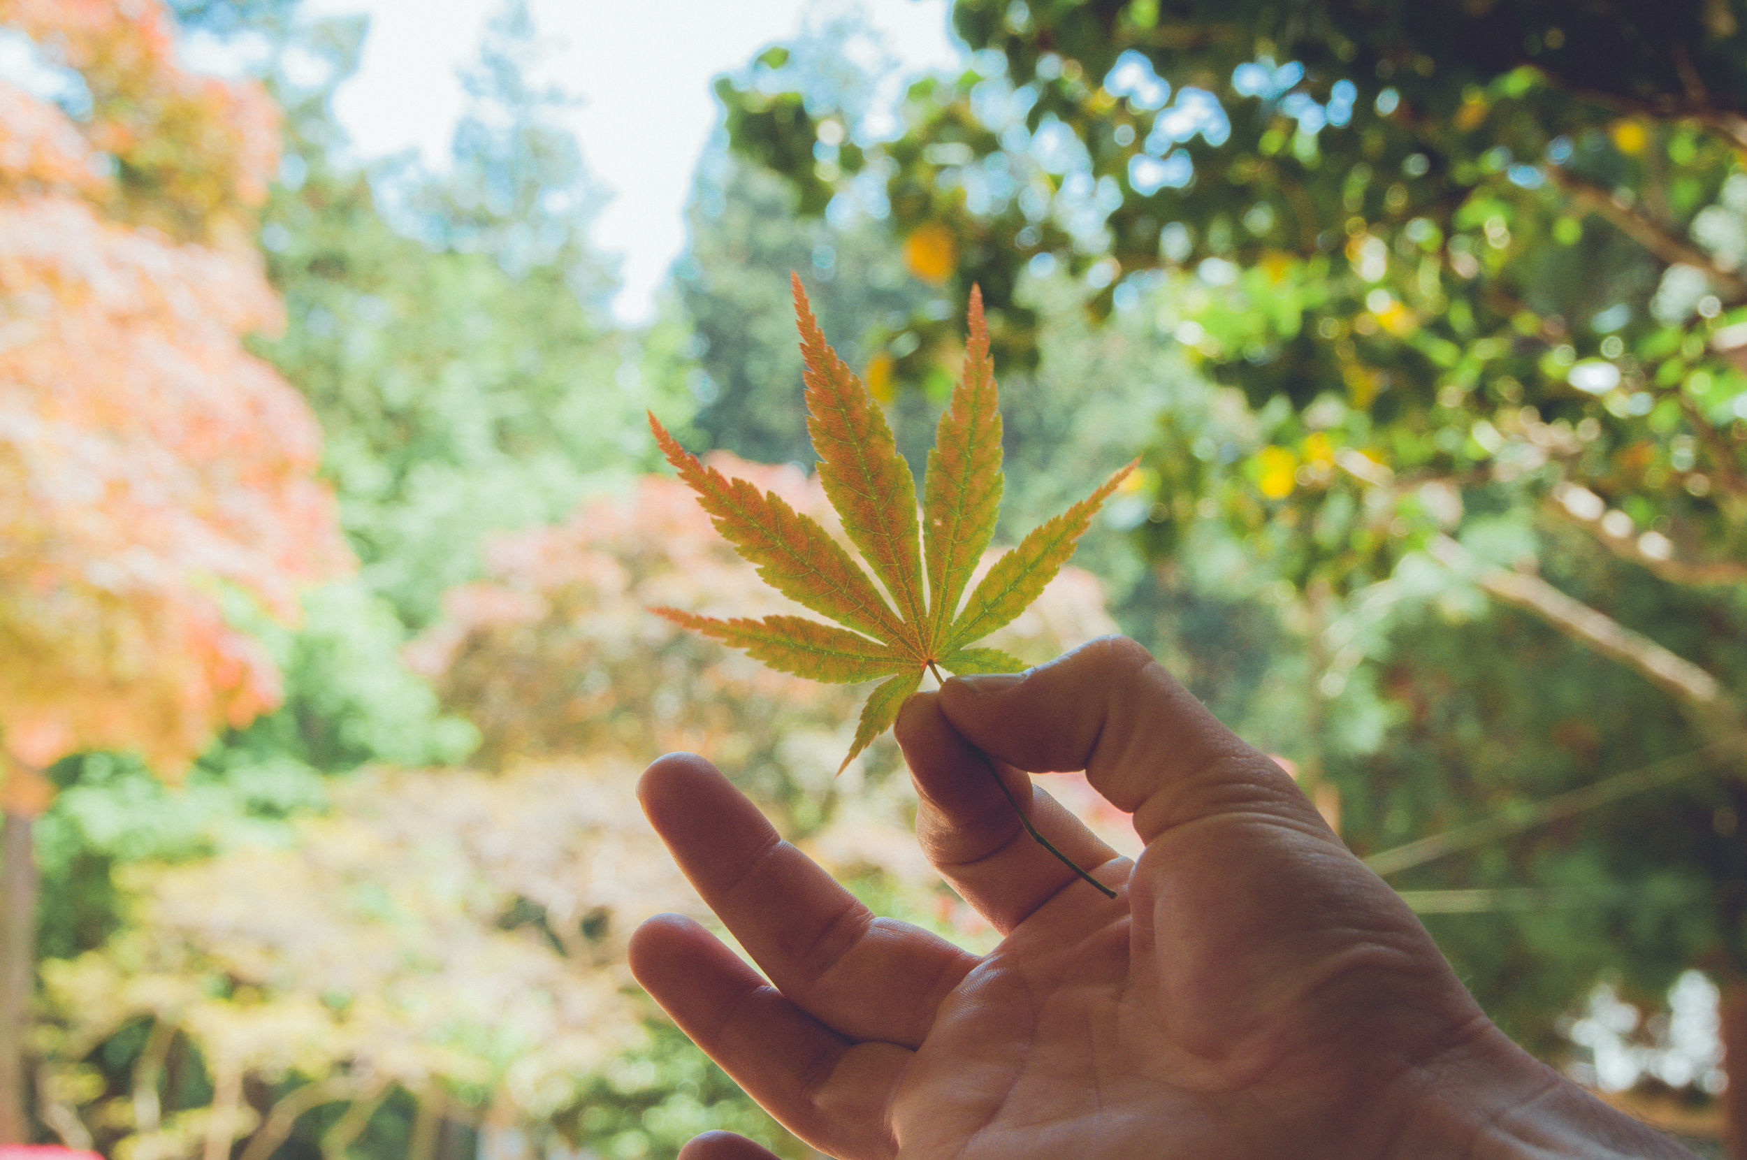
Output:
<path fill-rule="evenodd" d="M 594 241 L 620 255 L 620 321 L 653 314 L 655 292 L 685 248 L 692 169 L 718 117 L 711 80 L 798 31 L 809 10 L 854 9 L 907 70 L 961 59 L 945 0 L 531 0 L 556 49 L 545 79 L 582 98 L 573 129 L 611 194 Z M 335 94 L 356 155 L 418 148 L 442 164 L 461 112 L 456 68 L 473 58 L 496 0 L 309 0 L 306 10 L 370 16 L 358 73 Z"/>

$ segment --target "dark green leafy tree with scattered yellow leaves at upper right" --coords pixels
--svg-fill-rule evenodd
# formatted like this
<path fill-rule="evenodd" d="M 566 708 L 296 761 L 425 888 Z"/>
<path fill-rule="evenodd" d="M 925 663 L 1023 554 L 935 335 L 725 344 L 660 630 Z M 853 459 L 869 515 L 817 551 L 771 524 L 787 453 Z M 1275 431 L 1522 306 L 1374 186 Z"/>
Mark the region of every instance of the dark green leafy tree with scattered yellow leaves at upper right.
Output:
<path fill-rule="evenodd" d="M 1658 720 L 1684 716 L 1646 735 L 1714 741 L 1710 765 L 1738 769 L 1747 9 L 959 0 L 954 23 L 971 65 L 914 87 L 896 140 L 856 136 L 767 54 L 723 89 L 735 147 L 807 204 L 884 178 L 893 231 L 945 255 L 961 299 L 977 281 L 999 309 L 1020 267 L 1060 264 L 1094 316 L 1155 309 L 1160 341 L 1254 423 L 1226 458 L 1167 418 L 1143 542 L 1172 550 L 1211 500 L 1326 629 L 1328 688 L 1394 641 L 1398 711 L 1424 704 L 1433 674 L 1391 625 L 1424 634 L 1408 610 L 1427 601 L 1473 617 L 1478 590 L 1626 666 Z M 1029 307 L 1005 327 L 994 309 L 1025 358 Z M 893 330 L 914 349 L 942 335 L 924 316 Z M 1520 620 L 1494 624 L 1530 655 Z M 1467 722 L 1520 708 L 1487 704 Z M 1590 704 L 1611 737 L 1619 718 Z M 1558 767 L 1516 776 L 1551 791 L 1588 772 Z M 1663 795 L 1635 849 L 1738 873 L 1702 853 L 1742 805 L 1733 784 Z M 1644 872 L 1618 835 L 1565 846 L 1614 889 Z M 1730 898 L 1712 891 L 1682 945 L 1726 982 L 1726 1034 L 1747 1043 Z M 1660 936 L 1623 935 L 1621 964 L 1658 975 Z M 1740 1151 L 1747 1104 L 1730 1104 Z"/>

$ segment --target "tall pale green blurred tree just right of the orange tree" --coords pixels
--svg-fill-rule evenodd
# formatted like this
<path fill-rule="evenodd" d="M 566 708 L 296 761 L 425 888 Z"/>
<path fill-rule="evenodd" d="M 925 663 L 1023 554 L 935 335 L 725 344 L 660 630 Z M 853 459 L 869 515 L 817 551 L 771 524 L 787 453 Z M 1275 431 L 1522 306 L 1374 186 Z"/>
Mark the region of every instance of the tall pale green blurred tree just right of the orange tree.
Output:
<path fill-rule="evenodd" d="M 290 325 L 260 351 L 330 432 L 323 472 L 362 580 L 418 631 L 479 575 L 486 533 L 561 519 L 652 465 L 643 412 L 680 418 L 678 339 L 604 313 L 599 194 L 554 121 L 561 96 L 524 80 L 540 42 L 522 9 L 491 23 L 435 175 L 332 157 L 327 98 L 356 40 L 299 35 L 328 68 L 276 82 L 293 161 L 260 238 Z"/>

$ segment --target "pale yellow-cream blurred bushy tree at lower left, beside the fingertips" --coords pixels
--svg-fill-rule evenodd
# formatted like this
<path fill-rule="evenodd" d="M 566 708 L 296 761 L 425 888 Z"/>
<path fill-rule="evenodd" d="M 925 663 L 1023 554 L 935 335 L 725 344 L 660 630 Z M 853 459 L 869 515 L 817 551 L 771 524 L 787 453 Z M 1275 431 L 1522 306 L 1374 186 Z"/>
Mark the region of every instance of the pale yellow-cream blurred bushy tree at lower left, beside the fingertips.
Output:
<path fill-rule="evenodd" d="M 250 1160 L 552 1120 L 648 1039 L 624 936 L 695 907 L 634 784 L 615 758 L 376 769 L 285 840 L 135 863 L 126 928 L 44 968 L 45 1102 L 105 1153 Z M 119 1087 L 93 1062 L 117 1036 L 143 1039 Z"/>

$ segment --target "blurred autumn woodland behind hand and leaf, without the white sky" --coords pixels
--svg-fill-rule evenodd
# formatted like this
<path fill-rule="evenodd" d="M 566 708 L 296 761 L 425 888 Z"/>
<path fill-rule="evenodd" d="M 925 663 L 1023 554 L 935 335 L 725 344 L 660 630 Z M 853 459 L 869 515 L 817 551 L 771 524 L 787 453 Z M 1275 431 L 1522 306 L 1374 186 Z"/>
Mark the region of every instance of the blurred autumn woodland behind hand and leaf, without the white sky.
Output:
<path fill-rule="evenodd" d="M 884 140 L 818 24 L 625 328 L 524 9 L 430 173 L 341 161 L 360 21 L 0 3 L 0 1144 L 805 1155 L 624 971 L 697 905 L 648 756 L 989 933 L 853 695 L 645 613 L 765 599 L 645 409 L 823 512 L 795 269 L 912 451 L 982 285 L 1005 528 L 1144 456 L 1010 650 L 1146 643 L 1511 1034 L 1747 1155 L 1747 9 L 1602 7 L 957 0 Z"/>

